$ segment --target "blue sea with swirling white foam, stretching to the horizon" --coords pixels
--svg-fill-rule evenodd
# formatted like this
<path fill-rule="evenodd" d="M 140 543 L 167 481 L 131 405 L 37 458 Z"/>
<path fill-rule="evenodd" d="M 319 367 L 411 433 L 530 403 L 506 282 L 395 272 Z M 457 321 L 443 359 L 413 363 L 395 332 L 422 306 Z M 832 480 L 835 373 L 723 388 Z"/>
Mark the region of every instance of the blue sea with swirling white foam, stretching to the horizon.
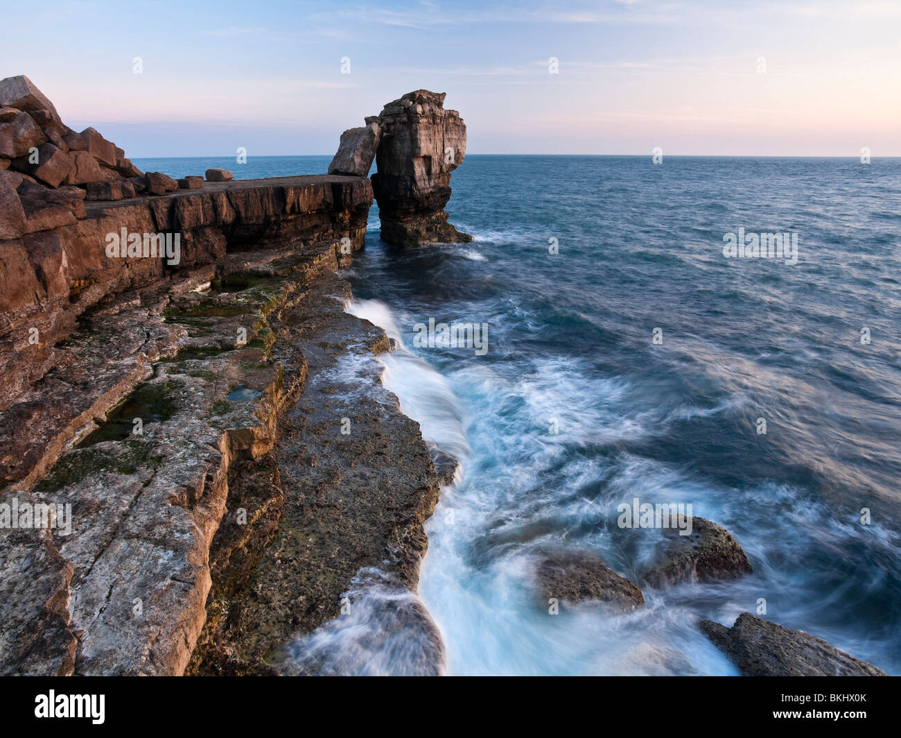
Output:
<path fill-rule="evenodd" d="M 420 581 L 446 671 L 734 674 L 697 623 L 765 603 L 901 674 L 901 160 L 468 156 L 451 186 L 472 244 L 398 250 L 373 208 L 348 273 L 349 309 L 398 341 L 383 381 L 461 463 Z M 739 228 L 795 233 L 797 263 L 726 258 Z M 429 318 L 486 324 L 487 354 L 415 346 Z M 653 541 L 616 524 L 636 497 L 691 503 L 754 573 L 549 614 L 542 547 L 638 577 Z"/>

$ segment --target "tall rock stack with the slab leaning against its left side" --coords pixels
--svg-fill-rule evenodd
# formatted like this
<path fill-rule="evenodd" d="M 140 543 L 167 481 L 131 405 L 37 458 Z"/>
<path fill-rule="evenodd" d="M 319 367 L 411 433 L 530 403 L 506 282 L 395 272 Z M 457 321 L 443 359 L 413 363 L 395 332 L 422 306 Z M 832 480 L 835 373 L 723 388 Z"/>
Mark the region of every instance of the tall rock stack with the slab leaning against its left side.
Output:
<path fill-rule="evenodd" d="M 341 134 L 330 174 L 366 177 L 375 159 L 372 189 L 381 237 L 388 244 L 469 243 L 448 223 L 451 172 L 466 155 L 466 125 L 444 109 L 445 93 L 418 89 L 388 103 L 366 125 Z"/>

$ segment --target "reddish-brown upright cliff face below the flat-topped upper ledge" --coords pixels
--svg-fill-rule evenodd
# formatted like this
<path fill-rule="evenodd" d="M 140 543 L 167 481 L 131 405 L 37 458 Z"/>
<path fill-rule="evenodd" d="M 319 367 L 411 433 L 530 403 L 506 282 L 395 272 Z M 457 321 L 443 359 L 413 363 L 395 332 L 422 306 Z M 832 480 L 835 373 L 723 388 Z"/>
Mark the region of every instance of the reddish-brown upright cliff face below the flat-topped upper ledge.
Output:
<path fill-rule="evenodd" d="M 51 370 L 79 361 L 60 342 L 86 309 L 121 291 L 214 263 L 228 249 L 267 240 L 315 243 L 331 237 L 340 247 L 346 238 L 344 249 L 357 249 L 370 202 L 369 182 L 348 177 L 211 183 L 200 192 L 178 189 L 165 197 L 82 203 L 85 216 L 74 223 L 0 241 L 0 273 L 6 277 L 0 281 L 0 383 L 5 387 L 0 485 L 29 484 L 46 468 L 48 450 L 59 448 L 71 434 L 72 424 L 105 410 L 89 396 L 76 395 L 63 401 L 58 417 L 50 404 L 53 396 L 41 384 Z M 140 255 L 108 257 L 107 236 L 121 237 L 123 229 L 178 234 L 178 263 Z M 73 409 L 79 412 L 69 419 Z M 30 429 L 24 437 L 17 431 L 23 423 Z"/>

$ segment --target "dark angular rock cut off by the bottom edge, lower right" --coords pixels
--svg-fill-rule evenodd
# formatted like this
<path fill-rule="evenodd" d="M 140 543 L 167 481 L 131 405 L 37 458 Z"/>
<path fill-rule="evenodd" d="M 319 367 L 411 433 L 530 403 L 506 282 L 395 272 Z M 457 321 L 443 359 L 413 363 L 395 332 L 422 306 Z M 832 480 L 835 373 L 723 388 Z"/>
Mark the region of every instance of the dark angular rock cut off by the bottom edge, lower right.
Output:
<path fill-rule="evenodd" d="M 742 613 L 732 628 L 704 620 L 701 630 L 749 677 L 886 677 L 872 664 L 810 633 Z"/>

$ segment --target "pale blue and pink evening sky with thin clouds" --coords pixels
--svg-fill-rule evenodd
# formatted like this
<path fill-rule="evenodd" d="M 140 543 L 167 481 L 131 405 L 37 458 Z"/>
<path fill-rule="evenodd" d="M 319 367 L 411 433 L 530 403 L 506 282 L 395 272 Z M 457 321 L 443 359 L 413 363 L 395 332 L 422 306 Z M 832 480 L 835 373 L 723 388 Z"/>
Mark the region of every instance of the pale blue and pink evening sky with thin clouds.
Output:
<path fill-rule="evenodd" d="M 0 77 L 132 158 L 332 154 L 418 88 L 468 153 L 901 156 L 901 0 L 5 5 Z"/>

